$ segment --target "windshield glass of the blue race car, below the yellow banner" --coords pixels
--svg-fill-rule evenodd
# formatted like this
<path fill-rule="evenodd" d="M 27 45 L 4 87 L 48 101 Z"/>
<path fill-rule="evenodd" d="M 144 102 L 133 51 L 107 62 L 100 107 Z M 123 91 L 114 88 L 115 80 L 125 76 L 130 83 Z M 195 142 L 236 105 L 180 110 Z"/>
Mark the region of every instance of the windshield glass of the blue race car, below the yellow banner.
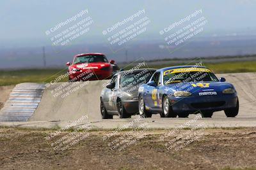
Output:
<path fill-rule="evenodd" d="M 169 73 L 164 75 L 164 84 L 191 82 L 191 81 L 218 81 L 218 78 L 211 72 L 190 71 L 182 73 Z"/>

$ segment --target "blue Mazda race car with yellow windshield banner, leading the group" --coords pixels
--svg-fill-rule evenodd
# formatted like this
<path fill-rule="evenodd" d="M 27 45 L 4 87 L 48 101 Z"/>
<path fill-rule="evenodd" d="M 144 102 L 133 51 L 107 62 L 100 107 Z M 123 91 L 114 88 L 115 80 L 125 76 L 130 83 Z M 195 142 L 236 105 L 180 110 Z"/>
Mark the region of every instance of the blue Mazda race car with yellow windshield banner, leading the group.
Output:
<path fill-rule="evenodd" d="M 161 117 L 188 117 L 201 113 L 212 117 L 225 111 L 236 117 L 239 110 L 237 92 L 225 78 L 218 78 L 203 66 L 175 66 L 159 69 L 147 84 L 139 88 L 139 112 L 143 117 L 160 113 Z"/>

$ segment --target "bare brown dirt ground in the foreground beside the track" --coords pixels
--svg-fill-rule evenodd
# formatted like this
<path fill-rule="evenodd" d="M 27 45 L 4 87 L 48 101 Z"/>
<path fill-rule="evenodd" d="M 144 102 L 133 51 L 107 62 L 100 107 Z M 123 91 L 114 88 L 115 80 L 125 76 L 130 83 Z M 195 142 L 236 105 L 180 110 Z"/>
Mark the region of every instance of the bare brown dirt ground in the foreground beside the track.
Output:
<path fill-rule="evenodd" d="M 54 150 L 47 139 L 54 131 L 0 129 L 0 169 L 229 169 L 256 167 L 256 128 L 206 129 L 189 145 L 168 150 L 161 140 L 168 130 L 147 131 L 144 138 L 123 150 L 109 148 L 120 132 L 106 138 L 108 131 L 88 134 L 67 150 Z M 189 132 L 182 130 L 179 133 Z M 66 136 L 71 132 L 61 132 Z M 74 132 L 73 135 L 78 134 Z"/>

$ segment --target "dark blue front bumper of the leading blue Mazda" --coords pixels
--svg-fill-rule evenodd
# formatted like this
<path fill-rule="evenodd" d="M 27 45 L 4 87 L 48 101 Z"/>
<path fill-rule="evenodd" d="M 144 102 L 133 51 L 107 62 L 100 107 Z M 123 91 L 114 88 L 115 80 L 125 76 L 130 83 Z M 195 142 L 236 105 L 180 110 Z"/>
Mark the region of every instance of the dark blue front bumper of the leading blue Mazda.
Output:
<path fill-rule="evenodd" d="M 227 108 L 235 108 L 237 104 L 236 94 L 221 94 L 218 96 L 189 96 L 170 97 L 170 103 L 175 113 L 195 113 L 196 111 L 214 112 Z"/>

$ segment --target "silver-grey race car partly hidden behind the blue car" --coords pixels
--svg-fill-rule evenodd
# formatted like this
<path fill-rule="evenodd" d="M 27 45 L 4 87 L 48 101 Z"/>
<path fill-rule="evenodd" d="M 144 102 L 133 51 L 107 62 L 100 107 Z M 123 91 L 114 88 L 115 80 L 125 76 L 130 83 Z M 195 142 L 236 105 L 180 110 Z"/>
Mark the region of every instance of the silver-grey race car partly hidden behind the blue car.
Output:
<path fill-rule="evenodd" d="M 100 112 L 103 119 L 129 118 L 136 115 L 138 109 L 138 89 L 147 83 L 156 69 L 134 69 L 120 71 L 109 80 L 100 96 Z"/>

